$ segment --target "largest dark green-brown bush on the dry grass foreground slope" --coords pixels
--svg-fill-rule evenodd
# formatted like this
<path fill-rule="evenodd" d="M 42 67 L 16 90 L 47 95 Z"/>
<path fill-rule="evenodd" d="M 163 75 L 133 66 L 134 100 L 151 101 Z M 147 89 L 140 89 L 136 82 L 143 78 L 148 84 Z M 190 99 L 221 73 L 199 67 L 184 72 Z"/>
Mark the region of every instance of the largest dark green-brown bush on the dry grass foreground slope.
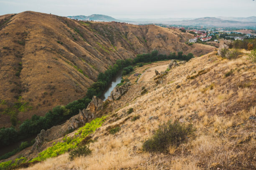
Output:
<path fill-rule="evenodd" d="M 143 143 L 143 150 L 148 152 L 166 152 L 170 146 L 179 146 L 184 143 L 189 135 L 193 135 L 195 129 L 192 124 L 185 125 L 179 121 L 160 125 L 152 138 Z"/>

